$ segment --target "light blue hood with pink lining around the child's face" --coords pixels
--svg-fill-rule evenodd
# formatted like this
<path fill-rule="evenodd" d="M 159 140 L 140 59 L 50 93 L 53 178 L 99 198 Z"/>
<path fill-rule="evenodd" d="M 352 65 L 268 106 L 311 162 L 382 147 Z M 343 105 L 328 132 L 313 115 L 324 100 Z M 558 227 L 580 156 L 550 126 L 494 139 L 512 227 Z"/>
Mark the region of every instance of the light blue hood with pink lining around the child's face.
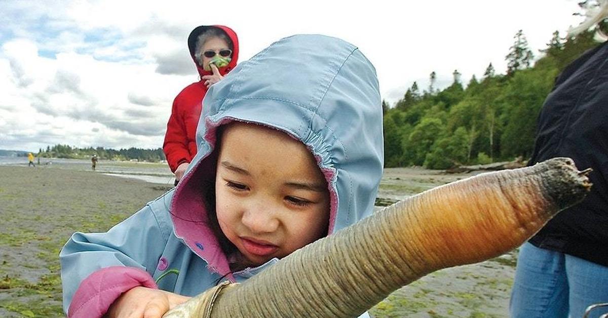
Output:
<path fill-rule="evenodd" d="M 239 64 L 203 100 L 198 153 L 176 188 L 171 214 L 176 235 L 212 270 L 229 272 L 218 246 L 201 246 L 212 235 L 201 187 L 215 182 L 216 130 L 232 121 L 275 128 L 308 147 L 330 190 L 329 234 L 373 211 L 384 161 L 374 67 L 337 38 L 284 38 Z"/>

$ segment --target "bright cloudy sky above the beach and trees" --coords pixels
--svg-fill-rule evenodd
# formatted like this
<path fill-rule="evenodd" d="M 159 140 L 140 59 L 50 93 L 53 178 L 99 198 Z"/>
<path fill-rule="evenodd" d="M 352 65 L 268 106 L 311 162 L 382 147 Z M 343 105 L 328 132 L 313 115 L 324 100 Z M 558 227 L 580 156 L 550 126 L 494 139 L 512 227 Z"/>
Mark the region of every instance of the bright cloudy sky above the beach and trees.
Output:
<path fill-rule="evenodd" d="M 0 0 L 0 149 L 162 147 L 171 102 L 198 80 L 186 40 L 201 24 L 232 27 L 241 61 L 295 33 L 343 38 L 394 103 L 432 71 L 440 88 L 455 69 L 464 83 L 489 63 L 504 73 L 517 30 L 538 57 L 582 21 L 572 0 L 355 3 Z"/>

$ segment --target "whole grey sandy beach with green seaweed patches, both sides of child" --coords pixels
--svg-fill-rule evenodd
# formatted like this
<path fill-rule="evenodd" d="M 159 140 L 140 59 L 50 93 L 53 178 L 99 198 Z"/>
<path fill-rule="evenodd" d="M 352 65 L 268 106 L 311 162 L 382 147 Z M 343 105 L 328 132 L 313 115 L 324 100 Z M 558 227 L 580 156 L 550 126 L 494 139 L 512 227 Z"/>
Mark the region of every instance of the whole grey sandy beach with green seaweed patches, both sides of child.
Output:
<path fill-rule="evenodd" d="M 148 167 L 152 173 L 161 169 L 132 165 L 142 171 Z M 108 230 L 171 187 L 108 176 L 86 170 L 85 165 L 66 167 L 0 165 L 0 317 L 63 317 L 58 254 L 70 235 Z M 133 169 L 125 174 L 133 174 Z M 378 203 L 469 175 L 387 169 Z M 508 317 L 515 255 L 434 272 L 399 289 L 370 313 L 373 317 Z"/>

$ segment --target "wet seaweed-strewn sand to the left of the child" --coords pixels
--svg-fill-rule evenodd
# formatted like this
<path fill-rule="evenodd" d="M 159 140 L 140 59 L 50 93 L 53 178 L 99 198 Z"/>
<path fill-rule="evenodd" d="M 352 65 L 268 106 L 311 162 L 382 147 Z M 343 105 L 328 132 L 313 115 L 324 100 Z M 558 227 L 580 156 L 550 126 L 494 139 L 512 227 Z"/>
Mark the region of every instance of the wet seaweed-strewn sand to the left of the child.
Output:
<path fill-rule="evenodd" d="M 64 317 L 58 254 L 73 232 L 102 232 L 168 186 L 50 167 L 0 167 L 0 317 Z"/>

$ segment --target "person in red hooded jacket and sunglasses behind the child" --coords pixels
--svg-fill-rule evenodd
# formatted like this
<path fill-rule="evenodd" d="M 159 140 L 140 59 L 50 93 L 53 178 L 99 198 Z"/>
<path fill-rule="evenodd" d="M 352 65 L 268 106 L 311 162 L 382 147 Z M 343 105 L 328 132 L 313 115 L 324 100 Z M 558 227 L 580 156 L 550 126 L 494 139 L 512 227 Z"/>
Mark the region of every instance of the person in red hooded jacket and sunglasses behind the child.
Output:
<path fill-rule="evenodd" d="M 175 97 L 162 147 L 175 184 L 196 154 L 196 126 L 207 89 L 237 65 L 237 33 L 226 26 L 199 26 L 188 36 L 188 49 L 201 79 Z"/>

